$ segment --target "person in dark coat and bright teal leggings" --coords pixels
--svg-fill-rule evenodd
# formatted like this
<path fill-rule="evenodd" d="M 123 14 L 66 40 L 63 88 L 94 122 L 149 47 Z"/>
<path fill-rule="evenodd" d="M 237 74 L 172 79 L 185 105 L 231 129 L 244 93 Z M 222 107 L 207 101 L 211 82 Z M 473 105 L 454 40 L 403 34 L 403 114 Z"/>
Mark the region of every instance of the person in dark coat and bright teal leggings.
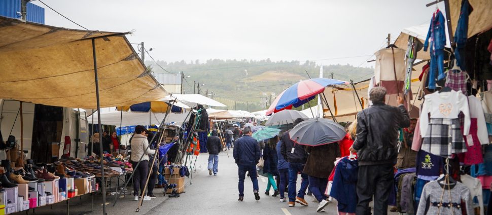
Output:
<path fill-rule="evenodd" d="M 278 157 L 276 152 L 277 137 L 270 138 L 263 150 L 263 173 L 268 175 L 268 183 L 266 185 L 265 195 L 270 195 L 270 188 L 273 187 L 273 197 L 278 195 L 278 188 L 273 175 L 278 175 L 277 164 Z"/>

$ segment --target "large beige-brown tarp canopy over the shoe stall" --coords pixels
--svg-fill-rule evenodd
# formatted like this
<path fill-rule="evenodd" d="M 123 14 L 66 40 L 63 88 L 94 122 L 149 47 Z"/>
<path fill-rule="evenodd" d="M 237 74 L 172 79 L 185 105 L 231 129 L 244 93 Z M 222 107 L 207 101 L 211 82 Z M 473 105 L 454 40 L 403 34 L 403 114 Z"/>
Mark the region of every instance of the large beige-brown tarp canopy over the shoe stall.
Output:
<path fill-rule="evenodd" d="M 95 40 L 100 106 L 167 95 L 125 33 L 74 30 L 0 17 L 0 98 L 95 109 Z"/>

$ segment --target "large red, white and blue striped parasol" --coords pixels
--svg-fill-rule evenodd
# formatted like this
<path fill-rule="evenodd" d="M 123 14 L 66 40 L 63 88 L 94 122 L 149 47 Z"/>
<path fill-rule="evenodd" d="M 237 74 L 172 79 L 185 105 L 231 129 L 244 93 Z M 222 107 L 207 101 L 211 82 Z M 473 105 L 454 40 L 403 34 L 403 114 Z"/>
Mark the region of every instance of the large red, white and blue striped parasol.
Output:
<path fill-rule="evenodd" d="M 300 81 L 280 93 L 266 111 L 266 115 L 292 109 L 292 106 L 297 108 L 325 91 L 326 87 L 342 84 L 348 84 L 348 82 L 324 78 Z"/>

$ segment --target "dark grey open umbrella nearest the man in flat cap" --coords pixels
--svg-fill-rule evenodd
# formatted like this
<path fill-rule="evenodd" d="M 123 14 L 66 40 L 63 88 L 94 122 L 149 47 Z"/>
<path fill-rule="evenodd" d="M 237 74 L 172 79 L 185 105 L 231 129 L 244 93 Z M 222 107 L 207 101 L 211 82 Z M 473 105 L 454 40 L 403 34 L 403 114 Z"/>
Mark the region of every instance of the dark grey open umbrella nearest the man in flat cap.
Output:
<path fill-rule="evenodd" d="M 289 131 L 292 141 L 299 145 L 321 146 L 340 141 L 345 128 L 328 119 L 309 119 L 297 124 Z"/>

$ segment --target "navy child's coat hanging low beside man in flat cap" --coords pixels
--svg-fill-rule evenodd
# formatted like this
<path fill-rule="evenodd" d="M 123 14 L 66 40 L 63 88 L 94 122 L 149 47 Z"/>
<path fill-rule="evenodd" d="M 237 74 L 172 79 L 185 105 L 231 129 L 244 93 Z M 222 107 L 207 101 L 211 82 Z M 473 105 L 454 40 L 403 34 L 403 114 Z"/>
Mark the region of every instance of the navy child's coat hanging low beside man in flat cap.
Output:
<path fill-rule="evenodd" d="M 338 211 L 355 213 L 359 161 L 342 158 L 336 165 L 330 196 L 337 200 Z"/>

